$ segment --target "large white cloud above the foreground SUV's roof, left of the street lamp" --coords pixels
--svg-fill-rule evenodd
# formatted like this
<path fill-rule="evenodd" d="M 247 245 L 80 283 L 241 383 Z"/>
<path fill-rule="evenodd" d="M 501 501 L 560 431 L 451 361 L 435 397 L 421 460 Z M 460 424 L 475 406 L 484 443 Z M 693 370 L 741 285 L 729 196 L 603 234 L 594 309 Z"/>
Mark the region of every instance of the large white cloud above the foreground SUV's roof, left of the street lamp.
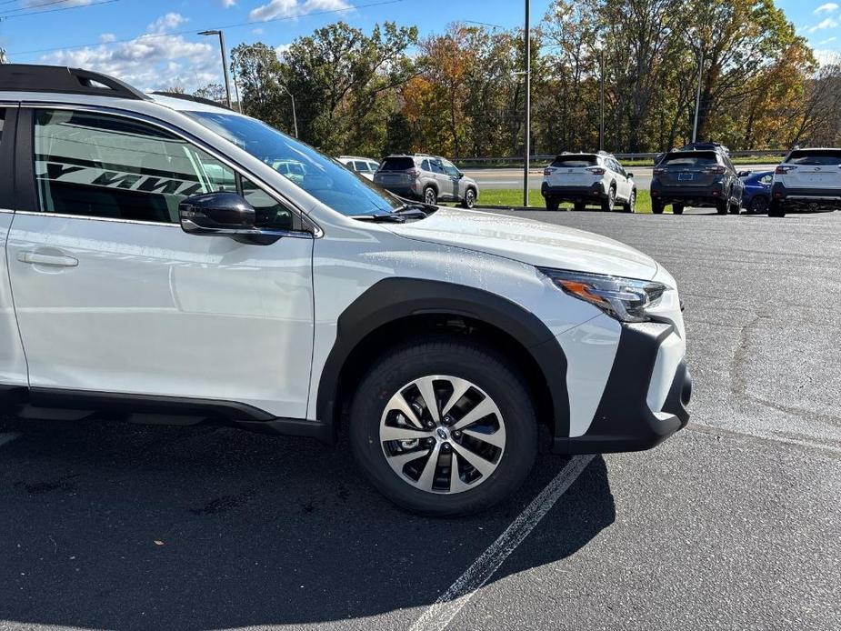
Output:
<path fill-rule="evenodd" d="M 166 33 L 185 21 L 182 15 L 162 15 L 148 26 L 145 35 L 129 42 L 113 44 L 110 34 L 105 34 L 100 45 L 57 51 L 41 60 L 113 75 L 147 91 L 172 85 L 189 90 L 219 82 L 222 65 L 217 45 L 189 42 L 183 35 Z"/>

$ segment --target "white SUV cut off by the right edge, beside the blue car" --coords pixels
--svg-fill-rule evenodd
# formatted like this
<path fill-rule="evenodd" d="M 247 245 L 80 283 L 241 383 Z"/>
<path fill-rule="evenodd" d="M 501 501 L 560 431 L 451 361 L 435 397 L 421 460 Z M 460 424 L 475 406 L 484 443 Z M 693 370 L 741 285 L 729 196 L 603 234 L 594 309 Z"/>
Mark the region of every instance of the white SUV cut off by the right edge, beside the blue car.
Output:
<path fill-rule="evenodd" d="M 774 171 L 768 216 L 841 208 L 841 149 L 795 149 Z"/>

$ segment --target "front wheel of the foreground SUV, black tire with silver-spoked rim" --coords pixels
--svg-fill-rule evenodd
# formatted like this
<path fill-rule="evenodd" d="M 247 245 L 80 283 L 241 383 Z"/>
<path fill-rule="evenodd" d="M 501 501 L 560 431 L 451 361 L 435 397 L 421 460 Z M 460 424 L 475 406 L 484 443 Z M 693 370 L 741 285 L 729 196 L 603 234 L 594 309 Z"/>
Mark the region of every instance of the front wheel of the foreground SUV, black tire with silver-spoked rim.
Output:
<path fill-rule="evenodd" d="M 454 417 L 465 417 L 477 404 L 492 407 L 495 412 L 480 420 L 492 426 L 496 424 L 496 429 L 491 427 L 490 432 L 485 427 L 486 436 L 497 436 L 504 429 L 502 448 L 465 433 L 450 436 L 449 432 L 460 431 L 455 429 L 457 421 L 456 425 L 448 426 L 444 416 L 436 424 L 426 405 L 419 405 L 425 399 L 416 380 L 429 385 L 430 390 L 435 386 L 439 409 L 446 406 L 442 401 L 448 401 L 454 394 L 455 384 L 461 383 L 457 380 L 469 382 L 466 395 L 453 407 Z M 447 385 L 453 387 L 448 389 Z M 490 399 L 489 404 L 483 396 Z M 403 406 L 396 405 L 400 400 Z M 418 407 L 412 407 L 413 403 Z M 405 424 L 414 420 L 405 416 L 405 409 L 414 409 L 415 420 L 424 426 L 433 425 L 423 433 L 407 428 Z M 442 430 L 444 438 L 439 436 Z M 410 439 L 382 440 L 384 431 Z M 420 436 L 415 439 L 415 435 Z M 426 516 L 464 516 L 494 506 L 523 484 L 537 452 L 537 418 L 525 383 L 502 356 L 469 341 L 440 337 L 398 346 L 375 362 L 356 390 L 350 410 L 349 437 L 360 469 L 397 506 Z M 434 446 L 426 448 L 427 440 Z M 476 445 L 487 449 L 489 460 L 477 460 L 480 456 L 467 449 Z M 445 453 L 446 448 L 449 454 Z M 415 452 L 420 456 L 412 458 Z M 462 456 L 465 452 L 470 454 L 470 460 Z M 455 482 L 450 476 L 453 469 L 447 467 L 454 453 L 458 455 L 459 473 Z M 395 461 L 395 456 L 404 457 Z M 427 464 L 435 456 L 438 458 L 435 471 L 439 475 L 424 476 Z M 486 471 L 469 466 L 471 460 Z M 435 491 L 424 488 L 435 488 Z"/>

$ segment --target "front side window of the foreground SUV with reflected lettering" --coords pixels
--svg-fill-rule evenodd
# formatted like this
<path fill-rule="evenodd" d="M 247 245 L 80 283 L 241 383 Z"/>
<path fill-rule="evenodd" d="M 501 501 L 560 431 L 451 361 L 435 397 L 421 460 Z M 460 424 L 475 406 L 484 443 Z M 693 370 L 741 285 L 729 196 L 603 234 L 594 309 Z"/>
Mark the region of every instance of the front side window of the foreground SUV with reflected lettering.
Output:
<path fill-rule="evenodd" d="M 154 126 L 88 112 L 35 115 L 35 178 L 48 213 L 178 223 L 185 197 L 235 191 L 232 169 Z"/>

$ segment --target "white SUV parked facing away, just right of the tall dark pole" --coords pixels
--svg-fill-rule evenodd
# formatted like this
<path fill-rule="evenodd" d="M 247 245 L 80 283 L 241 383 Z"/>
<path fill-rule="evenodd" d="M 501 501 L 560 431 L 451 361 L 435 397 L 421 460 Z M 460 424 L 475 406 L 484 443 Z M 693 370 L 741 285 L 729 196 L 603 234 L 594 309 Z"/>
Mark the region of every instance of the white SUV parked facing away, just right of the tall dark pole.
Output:
<path fill-rule="evenodd" d="M 636 209 L 634 174 L 626 173 L 613 155 L 603 151 L 558 155 L 543 172 L 540 192 L 547 210 L 557 210 L 564 202 L 576 210 L 598 205 L 611 211 L 617 203 L 626 213 Z"/>

